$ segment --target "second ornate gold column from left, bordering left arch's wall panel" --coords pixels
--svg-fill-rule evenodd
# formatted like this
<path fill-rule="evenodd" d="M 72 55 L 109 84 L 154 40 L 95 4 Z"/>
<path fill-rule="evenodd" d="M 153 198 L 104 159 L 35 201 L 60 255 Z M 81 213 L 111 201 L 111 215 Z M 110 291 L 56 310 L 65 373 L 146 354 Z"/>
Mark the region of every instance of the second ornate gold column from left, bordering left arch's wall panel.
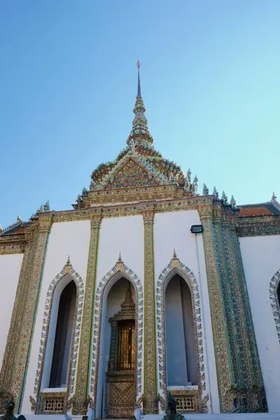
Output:
<path fill-rule="evenodd" d="M 31 339 L 36 319 L 36 311 L 38 306 L 38 297 L 40 294 L 41 279 L 43 276 L 43 264 L 45 261 L 45 253 L 48 244 L 48 236 L 52 225 L 52 216 L 39 216 L 38 221 L 38 237 L 36 239 L 34 258 L 30 269 L 29 284 L 27 286 L 27 298 L 25 308 L 22 314 L 22 328 L 19 334 L 19 348 L 16 359 L 14 360 L 14 374 L 12 393 L 15 399 L 17 411 L 20 412 L 22 395 L 25 390 L 25 379 L 27 375 L 27 365 L 29 361 L 29 351 L 31 347 Z M 27 275 L 29 275 L 29 273 Z"/>

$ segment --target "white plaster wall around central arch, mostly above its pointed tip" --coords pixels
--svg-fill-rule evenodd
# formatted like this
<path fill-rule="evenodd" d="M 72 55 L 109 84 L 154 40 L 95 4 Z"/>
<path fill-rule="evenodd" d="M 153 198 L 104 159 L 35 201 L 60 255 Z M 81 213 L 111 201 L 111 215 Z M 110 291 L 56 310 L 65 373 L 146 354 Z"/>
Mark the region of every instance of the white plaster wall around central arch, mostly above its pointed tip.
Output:
<path fill-rule="evenodd" d="M 102 220 L 99 236 L 96 288 L 103 276 L 116 265 L 119 253 L 121 253 L 125 265 L 137 274 L 141 283 L 144 283 L 144 223 L 142 216 L 104 218 Z M 103 311 L 102 330 L 104 322 L 106 322 L 106 320 L 104 321 L 104 316 L 106 315 Z M 110 339 L 108 337 L 107 331 L 107 339 Z M 99 349 L 99 372 L 104 372 L 104 360 L 106 360 L 106 345 L 102 339 Z M 142 363 L 144 363 L 144 360 L 142 360 Z M 98 415 L 101 414 L 102 387 L 105 381 L 106 375 L 99 375 L 96 409 Z M 142 381 L 144 381 L 144 378 L 142 378 Z"/>

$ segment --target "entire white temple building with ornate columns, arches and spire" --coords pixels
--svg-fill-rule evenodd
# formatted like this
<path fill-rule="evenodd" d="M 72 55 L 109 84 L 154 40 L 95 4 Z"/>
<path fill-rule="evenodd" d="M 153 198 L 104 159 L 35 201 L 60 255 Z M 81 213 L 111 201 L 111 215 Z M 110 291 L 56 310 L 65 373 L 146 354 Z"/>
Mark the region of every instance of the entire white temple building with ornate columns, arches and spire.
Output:
<path fill-rule="evenodd" d="M 139 73 L 133 111 L 73 209 L 1 229 L 0 413 L 280 413 L 279 203 L 199 194 L 153 146 Z"/>

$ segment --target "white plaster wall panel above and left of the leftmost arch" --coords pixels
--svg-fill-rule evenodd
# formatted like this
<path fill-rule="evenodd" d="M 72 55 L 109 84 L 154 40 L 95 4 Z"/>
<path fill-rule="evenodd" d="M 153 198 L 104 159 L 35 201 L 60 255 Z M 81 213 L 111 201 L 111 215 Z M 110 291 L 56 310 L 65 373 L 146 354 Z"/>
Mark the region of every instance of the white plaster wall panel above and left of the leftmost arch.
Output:
<path fill-rule="evenodd" d="M 54 223 L 52 225 L 52 230 L 48 239 L 43 279 L 38 300 L 38 310 L 31 344 L 25 393 L 22 401 L 22 413 L 31 414 L 29 395 L 34 395 L 34 381 L 36 377 L 41 330 L 43 326 L 43 313 L 48 286 L 52 279 L 61 272 L 66 264 L 68 255 L 70 255 L 73 269 L 80 274 L 85 283 L 89 245 L 90 221 Z"/>

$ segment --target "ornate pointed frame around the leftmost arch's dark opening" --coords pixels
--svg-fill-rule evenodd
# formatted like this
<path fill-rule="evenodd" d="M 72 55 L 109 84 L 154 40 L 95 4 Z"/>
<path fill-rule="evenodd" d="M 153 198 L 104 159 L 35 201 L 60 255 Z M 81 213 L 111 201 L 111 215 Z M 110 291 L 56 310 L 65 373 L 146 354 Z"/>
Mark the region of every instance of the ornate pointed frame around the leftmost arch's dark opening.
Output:
<path fill-rule="evenodd" d="M 52 300 L 55 293 L 55 288 L 59 281 L 62 280 L 64 276 L 70 276 L 71 279 L 75 282 L 77 288 L 77 297 L 76 297 L 76 309 L 75 309 L 75 318 L 73 323 L 73 337 L 71 341 L 71 350 L 70 350 L 70 363 L 69 363 L 69 379 L 67 386 L 67 400 L 73 397 L 74 394 L 74 385 L 76 381 L 76 367 L 78 365 L 78 348 L 80 342 L 80 328 L 83 312 L 83 296 L 84 296 L 84 283 L 80 275 L 73 269 L 69 259 L 64 265 L 61 272 L 55 276 L 48 287 L 47 297 L 45 299 L 45 311 L 43 314 L 43 328 L 41 332 L 41 342 L 38 355 L 38 365 L 36 370 L 36 379 L 34 384 L 34 394 L 36 395 L 36 400 L 41 391 L 41 381 L 43 377 L 43 365 L 45 360 L 45 349 L 48 342 L 48 331 L 50 326 L 50 315 L 52 311 Z"/>

